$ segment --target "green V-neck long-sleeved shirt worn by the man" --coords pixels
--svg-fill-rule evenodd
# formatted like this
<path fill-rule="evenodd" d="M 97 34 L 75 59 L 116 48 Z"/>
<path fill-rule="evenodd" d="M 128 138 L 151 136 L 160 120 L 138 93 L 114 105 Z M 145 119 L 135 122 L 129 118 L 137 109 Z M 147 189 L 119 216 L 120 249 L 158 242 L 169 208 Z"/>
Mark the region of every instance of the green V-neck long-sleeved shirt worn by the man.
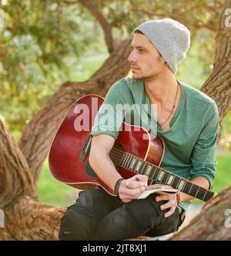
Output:
<path fill-rule="evenodd" d="M 120 79 L 109 89 L 95 116 L 92 136 L 108 134 L 117 139 L 124 118 L 132 112 L 130 123 L 134 124 L 137 122 L 134 117 L 138 115 L 137 109 L 142 109 L 139 112 L 141 126 L 152 134 L 156 131 L 165 143 L 165 153 L 160 167 L 188 180 L 198 176 L 206 177 L 209 180 L 209 188 L 212 188 L 216 171 L 218 109 L 215 101 L 205 93 L 185 83 L 179 84 L 182 89 L 179 105 L 172 117 L 169 130 L 163 131 L 158 120 L 153 121 L 156 120 L 155 110 L 151 107 L 143 80 Z M 136 110 L 131 111 L 131 108 L 122 106 L 136 106 L 133 108 Z M 148 121 L 142 123 L 142 118 L 146 119 L 147 116 Z M 129 123 L 128 120 L 126 123 Z M 181 206 L 186 208 L 188 204 L 189 202 L 184 202 Z"/>

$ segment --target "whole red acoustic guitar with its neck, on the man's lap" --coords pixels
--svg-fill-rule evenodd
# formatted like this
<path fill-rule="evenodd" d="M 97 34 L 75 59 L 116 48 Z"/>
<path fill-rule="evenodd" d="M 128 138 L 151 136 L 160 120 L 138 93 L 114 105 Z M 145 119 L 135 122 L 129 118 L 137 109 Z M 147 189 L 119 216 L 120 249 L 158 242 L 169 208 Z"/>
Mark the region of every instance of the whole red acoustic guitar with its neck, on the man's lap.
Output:
<path fill-rule="evenodd" d="M 49 168 L 62 183 L 79 189 L 86 188 L 85 185 L 101 186 L 115 196 L 114 191 L 97 177 L 89 164 L 92 125 L 103 100 L 97 95 L 87 95 L 70 107 L 52 142 Z M 148 140 L 143 140 L 144 137 Z M 140 173 L 149 177 L 148 184 L 170 185 L 199 200 L 207 201 L 215 195 L 213 191 L 160 167 L 164 151 L 165 145 L 159 136 L 152 139 L 141 126 L 138 130 L 137 126 L 123 122 L 109 157 L 116 170 L 126 179 Z"/>

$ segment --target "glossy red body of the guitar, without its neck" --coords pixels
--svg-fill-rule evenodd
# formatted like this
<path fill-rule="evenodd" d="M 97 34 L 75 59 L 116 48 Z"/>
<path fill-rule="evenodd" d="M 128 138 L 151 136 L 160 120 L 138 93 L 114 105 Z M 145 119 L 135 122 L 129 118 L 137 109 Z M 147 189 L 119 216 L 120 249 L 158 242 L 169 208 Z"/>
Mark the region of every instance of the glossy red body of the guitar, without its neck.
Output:
<path fill-rule="evenodd" d="M 91 133 L 95 115 L 103 100 L 102 97 L 96 95 L 83 96 L 70 107 L 52 142 L 49 152 L 49 167 L 57 180 L 72 187 L 81 188 L 82 184 L 95 184 L 103 187 L 109 194 L 115 195 L 90 170 L 89 150 L 84 159 L 80 160 L 82 148 Z M 82 120 L 80 126 L 79 120 Z M 84 126 L 85 129 L 81 130 L 81 126 Z M 134 128 L 135 126 L 122 123 L 122 130 L 115 141 L 117 147 L 119 150 L 131 153 L 142 160 L 159 166 L 164 153 L 164 143 L 158 136 L 151 140 L 146 129 L 140 127 L 140 130 L 136 131 Z M 143 140 L 144 136 L 149 137 L 149 140 Z M 115 162 L 113 161 L 113 163 Z M 136 174 L 131 170 L 120 167 L 116 163 L 115 167 L 124 178 L 129 178 Z"/>

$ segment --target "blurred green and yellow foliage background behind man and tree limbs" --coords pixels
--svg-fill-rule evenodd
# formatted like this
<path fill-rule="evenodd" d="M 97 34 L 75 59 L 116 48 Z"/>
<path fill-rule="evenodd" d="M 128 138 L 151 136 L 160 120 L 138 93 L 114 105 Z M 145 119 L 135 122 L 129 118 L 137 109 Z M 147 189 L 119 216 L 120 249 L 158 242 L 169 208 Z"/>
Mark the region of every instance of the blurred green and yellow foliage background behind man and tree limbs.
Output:
<path fill-rule="evenodd" d="M 126 39 L 136 25 L 148 19 L 171 16 L 182 21 L 192 33 L 192 42 L 177 78 L 199 89 L 209 77 L 223 0 L 91 2 L 112 26 L 115 40 Z M 89 79 L 109 52 L 99 22 L 81 1 L 0 0 L 0 10 L 4 14 L 4 26 L 0 27 L 0 115 L 18 141 L 25 125 L 62 83 Z M 222 190 L 231 180 L 231 154 L 226 151 L 230 144 L 231 110 L 223 120 L 215 190 Z M 76 193 L 54 180 L 47 161 L 38 190 L 43 201 L 59 205 L 69 204 Z"/>

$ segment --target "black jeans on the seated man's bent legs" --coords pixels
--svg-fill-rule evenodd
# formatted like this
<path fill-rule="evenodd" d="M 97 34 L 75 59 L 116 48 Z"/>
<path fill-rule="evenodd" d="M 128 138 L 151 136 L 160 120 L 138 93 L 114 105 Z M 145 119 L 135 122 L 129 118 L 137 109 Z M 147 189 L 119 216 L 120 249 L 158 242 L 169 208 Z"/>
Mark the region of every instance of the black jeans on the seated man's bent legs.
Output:
<path fill-rule="evenodd" d="M 155 194 L 124 204 L 103 189 L 83 190 L 62 217 L 59 240 L 123 240 L 140 235 L 159 236 L 177 231 L 182 224 L 179 209 L 164 217 L 166 201 Z"/>

